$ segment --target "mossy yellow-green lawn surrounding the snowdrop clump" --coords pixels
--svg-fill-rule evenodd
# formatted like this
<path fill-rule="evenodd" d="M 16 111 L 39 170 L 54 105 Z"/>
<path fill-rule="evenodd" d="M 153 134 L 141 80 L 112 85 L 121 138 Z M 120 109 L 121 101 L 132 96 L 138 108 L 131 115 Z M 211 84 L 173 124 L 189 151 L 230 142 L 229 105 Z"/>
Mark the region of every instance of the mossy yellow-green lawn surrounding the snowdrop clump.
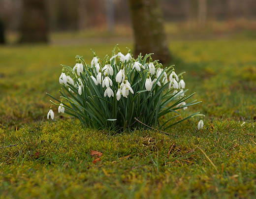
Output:
<path fill-rule="evenodd" d="M 113 46 L 0 47 L 0 147 L 15 144 L 0 148 L 0 198 L 255 198 L 256 40 L 170 43 L 188 93 L 203 101 L 187 110 L 206 115 L 201 131 L 200 118 L 168 129 L 176 136 L 113 135 L 59 114 L 48 121 L 45 92 L 58 96 L 60 63 Z M 100 161 L 90 150 L 102 152 Z"/>

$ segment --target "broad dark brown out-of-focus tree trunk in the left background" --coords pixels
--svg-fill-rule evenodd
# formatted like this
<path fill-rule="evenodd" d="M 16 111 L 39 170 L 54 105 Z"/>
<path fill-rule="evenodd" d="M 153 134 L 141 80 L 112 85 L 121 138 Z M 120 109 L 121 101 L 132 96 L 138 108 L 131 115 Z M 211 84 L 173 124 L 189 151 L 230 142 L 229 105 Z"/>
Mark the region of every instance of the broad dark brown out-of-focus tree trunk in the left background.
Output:
<path fill-rule="evenodd" d="M 21 43 L 48 42 L 48 20 L 45 0 L 23 0 Z"/>

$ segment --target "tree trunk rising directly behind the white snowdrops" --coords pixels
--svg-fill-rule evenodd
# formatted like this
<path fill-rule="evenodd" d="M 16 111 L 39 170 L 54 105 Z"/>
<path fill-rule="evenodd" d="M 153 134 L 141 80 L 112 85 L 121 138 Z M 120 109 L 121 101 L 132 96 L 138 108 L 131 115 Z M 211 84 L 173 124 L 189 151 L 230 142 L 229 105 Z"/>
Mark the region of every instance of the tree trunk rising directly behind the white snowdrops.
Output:
<path fill-rule="evenodd" d="M 155 59 L 170 58 L 159 0 L 129 0 L 135 56 L 154 53 Z"/>

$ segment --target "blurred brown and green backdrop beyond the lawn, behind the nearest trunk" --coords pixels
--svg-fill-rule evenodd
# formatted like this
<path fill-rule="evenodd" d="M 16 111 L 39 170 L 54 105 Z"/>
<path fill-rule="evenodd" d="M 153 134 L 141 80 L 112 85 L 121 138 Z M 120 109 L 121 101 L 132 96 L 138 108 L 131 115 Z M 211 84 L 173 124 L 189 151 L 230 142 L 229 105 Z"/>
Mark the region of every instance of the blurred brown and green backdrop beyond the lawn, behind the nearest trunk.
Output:
<path fill-rule="evenodd" d="M 129 1 L 136 4 L 132 0 L 0 0 L 0 43 L 130 41 Z M 160 6 L 168 39 L 255 36 L 256 0 L 153 1 Z"/>

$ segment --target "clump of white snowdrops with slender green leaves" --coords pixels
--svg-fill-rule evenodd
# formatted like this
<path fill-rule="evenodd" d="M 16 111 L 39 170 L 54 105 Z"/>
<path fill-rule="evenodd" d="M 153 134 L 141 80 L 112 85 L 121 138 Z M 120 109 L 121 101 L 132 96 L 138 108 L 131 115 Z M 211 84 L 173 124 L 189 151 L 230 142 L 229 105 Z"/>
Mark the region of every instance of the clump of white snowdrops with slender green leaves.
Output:
<path fill-rule="evenodd" d="M 166 129 L 199 115 L 182 117 L 189 106 L 200 102 L 187 102 L 194 93 L 185 95 L 184 73 L 177 75 L 173 66 L 153 61 L 153 54 L 133 58 L 129 49 L 123 55 L 116 47 L 111 57 L 93 53 L 90 64 L 76 56 L 74 67 L 62 65 L 60 99 L 47 93 L 59 113 L 72 115 L 87 127 L 110 130 L 146 125 Z M 52 106 L 49 117 L 54 119 Z"/>

